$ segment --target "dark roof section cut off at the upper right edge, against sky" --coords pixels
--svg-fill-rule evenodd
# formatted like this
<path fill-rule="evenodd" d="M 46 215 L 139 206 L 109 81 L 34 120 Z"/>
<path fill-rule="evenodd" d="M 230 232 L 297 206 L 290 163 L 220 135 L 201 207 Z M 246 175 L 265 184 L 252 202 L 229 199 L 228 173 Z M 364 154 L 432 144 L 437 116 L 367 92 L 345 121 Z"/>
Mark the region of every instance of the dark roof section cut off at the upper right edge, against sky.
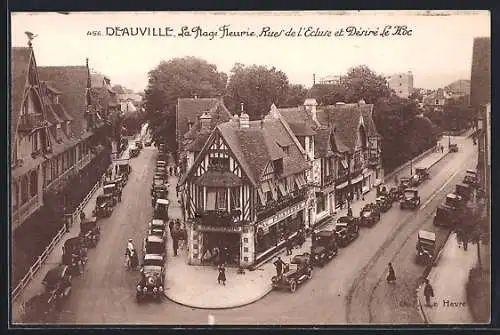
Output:
<path fill-rule="evenodd" d="M 478 107 L 491 102 L 491 39 L 478 37 L 472 47 L 470 102 Z"/>

